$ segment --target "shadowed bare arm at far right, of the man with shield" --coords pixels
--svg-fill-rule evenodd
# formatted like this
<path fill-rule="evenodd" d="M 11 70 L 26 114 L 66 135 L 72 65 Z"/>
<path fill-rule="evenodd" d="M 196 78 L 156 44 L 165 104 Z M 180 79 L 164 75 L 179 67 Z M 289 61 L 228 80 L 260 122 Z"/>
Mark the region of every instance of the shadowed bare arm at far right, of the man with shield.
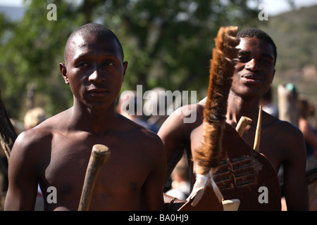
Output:
<path fill-rule="evenodd" d="M 284 163 L 287 210 L 309 210 L 304 136 L 297 128 L 287 129 L 287 134 L 284 136 L 285 150 L 287 150 L 287 160 Z"/>

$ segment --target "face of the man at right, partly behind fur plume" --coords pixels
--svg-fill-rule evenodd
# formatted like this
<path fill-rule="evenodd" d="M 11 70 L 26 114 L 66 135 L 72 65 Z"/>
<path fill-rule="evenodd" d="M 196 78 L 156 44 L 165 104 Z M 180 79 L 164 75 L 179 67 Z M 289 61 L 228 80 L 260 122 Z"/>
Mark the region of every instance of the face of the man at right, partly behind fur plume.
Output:
<path fill-rule="evenodd" d="M 268 91 L 275 73 L 273 46 L 256 37 L 243 37 L 231 91 L 243 98 L 254 98 Z"/>

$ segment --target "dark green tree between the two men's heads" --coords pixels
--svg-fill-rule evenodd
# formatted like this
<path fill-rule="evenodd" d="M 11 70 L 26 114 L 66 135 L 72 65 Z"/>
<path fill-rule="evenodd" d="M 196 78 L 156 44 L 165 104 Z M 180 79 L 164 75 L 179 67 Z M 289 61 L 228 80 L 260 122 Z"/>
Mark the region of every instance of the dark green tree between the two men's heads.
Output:
<path fill-rule="evenodd" d="M 128 52 L 126 87 L 172 91 L 206 86 L 218 28 L 257 18 L 247 1 L 118 0 L 99 10 L 108 12 L 101 21 L 116 30 Z"/>

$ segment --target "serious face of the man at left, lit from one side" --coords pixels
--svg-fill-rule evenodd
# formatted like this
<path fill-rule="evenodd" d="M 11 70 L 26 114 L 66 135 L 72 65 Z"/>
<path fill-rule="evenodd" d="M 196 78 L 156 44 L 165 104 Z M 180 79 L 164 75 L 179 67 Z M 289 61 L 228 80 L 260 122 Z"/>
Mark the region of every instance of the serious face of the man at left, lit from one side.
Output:
<path fill-rule="evenodd" d="M 116 101 L 128 62 L 111 37 L 74 37 L 61 72 L 73 96 L 88 108 L 101 110 Z M 65 68 L 65 70 L 63 70 Z"/>

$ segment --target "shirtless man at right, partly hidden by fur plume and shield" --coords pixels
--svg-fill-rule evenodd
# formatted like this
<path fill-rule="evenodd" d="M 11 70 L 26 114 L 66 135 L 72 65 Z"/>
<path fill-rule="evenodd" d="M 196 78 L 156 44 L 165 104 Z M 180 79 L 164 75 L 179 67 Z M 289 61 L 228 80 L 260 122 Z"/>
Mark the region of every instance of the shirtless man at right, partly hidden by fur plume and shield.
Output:
<path fill-rule="evenodd" d="M 233 127 L 236 127 L 240 117 L 251 118 L 253 122 L 244 131 L 242 138 L 253 146 L 260 96 L 268 91 L 273 81 L 277 54 L 271 37 L 261 30 L 244 30 L 238 37 L 240 45 L 237 48 L 240 52 L 232 77 L 226 117 Z M 191 149 L 192 155 L 199 148 L 203 132 L 204 105 L 192 105 L 191 110 L 197 114 L 194 123 L 184 123 L 184 113 L 175 111 L 159 130 L 158 134 L 166 146 L 167 158 L 170 158 L 175 149 L 183 150 L 178 148 L 180 144 Z M 263 112 L 260 153 L 266 155 L 276 171 L 280 165 L 284 165 L 287 209 L 308 210 L 306 150 L 302 132 L 292 124 Z"/>

